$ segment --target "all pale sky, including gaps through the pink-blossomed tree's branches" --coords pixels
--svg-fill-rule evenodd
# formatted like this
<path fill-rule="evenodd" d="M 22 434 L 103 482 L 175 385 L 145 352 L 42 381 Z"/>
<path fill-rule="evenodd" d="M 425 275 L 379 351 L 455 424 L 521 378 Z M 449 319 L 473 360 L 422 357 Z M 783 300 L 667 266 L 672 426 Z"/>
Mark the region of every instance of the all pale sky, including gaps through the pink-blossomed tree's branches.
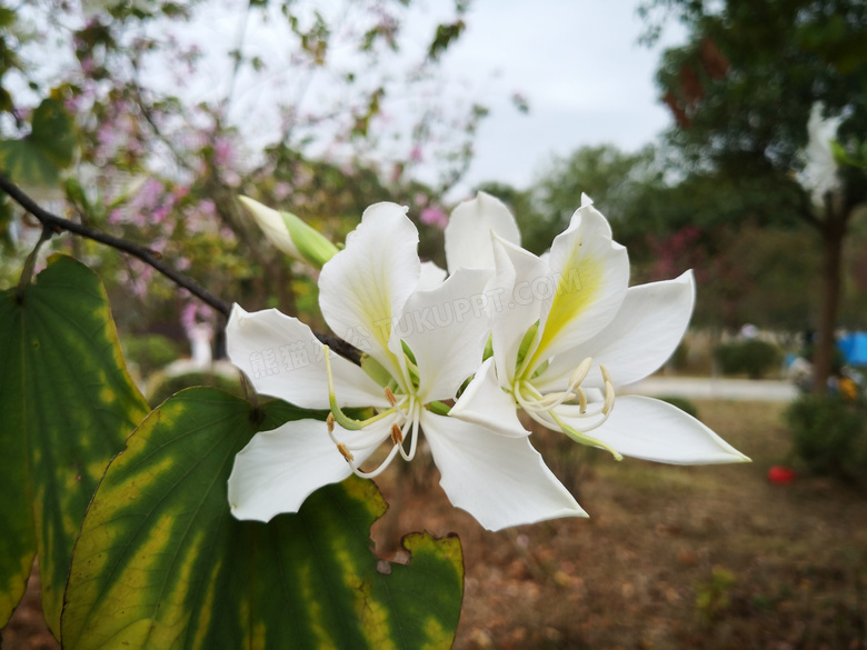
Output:
<path fill-rule="evenodd" d="M 682 28 L 670 24 L 655 48 L 638 44 L 645 29 L 636 13 L 640 1 L 470 0 L 467 29 L 442 58 L 441 71 L 450 83 L 445 91 L 466 93 L 466 99 L 489 108 L 490 114 L 478 131 L 469 172 L 447 200 L 465 198 L 484 181 L 526 189 L 555 156 L 601 143 L 632 151 L 670 124 L 654 74 L 664 47 L 679 44 L 685 36 Z M 219 56 L 212 61 L 206 59 L 187 94 L 212 100 L 229 92 L 230 60 L 219 52 L 235 47 L 243 32 L 246 53 L 260 54 L 277 71 L 249 84 L 241 78 L 233 86 L 232 114 L 252 149 L 261 149 L 272 137 L 273 119 L 265 111 L 278 98 L 303 97 L 301 112 L 328 106 L 328 78 L 320 74 L 310 84 L 303 73 L 292 72 L 297 69 L 290 60 L 283 60 L 286 36 L 275 29 L 278 21 L 246 21 L 246 2 L 238 0 L 212 3 L 219 11 L 203 13 L 190 33 L 195 40 L 205 37 L 206 42 L 225 46 L 215 50 Z M 333 9 L 341 2 L 310 0 L 310 4 Z M 454 8 L 455 0 L 413 0 L 401 39 L 407 60 L 412 54 L 423 57 L 431 26 L 454 20 Z M 405 49 L 407 38 L 410 47 Z M 529 113 L 516 109 L 515 93 L 526 98 Z M 432 167 L 428 173 L 423 164 L 416 171 L 420 180 L 437 180 Z"/>

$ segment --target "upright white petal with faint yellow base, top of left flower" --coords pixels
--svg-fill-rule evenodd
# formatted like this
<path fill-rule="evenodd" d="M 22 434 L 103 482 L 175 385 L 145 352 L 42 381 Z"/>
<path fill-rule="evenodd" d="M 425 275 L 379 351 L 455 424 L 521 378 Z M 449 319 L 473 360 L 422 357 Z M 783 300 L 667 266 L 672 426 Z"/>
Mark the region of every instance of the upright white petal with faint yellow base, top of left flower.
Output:
<path fill-rule="evenodd" d="M 361 223 L 347 237 L 346 249 L 319 276 L 319 307 L 331 331 L 396 377 L 400 370 L 388 339 L 421 272 L 418 231 L 406 212 L 396 203 L 365 210 Z"/>

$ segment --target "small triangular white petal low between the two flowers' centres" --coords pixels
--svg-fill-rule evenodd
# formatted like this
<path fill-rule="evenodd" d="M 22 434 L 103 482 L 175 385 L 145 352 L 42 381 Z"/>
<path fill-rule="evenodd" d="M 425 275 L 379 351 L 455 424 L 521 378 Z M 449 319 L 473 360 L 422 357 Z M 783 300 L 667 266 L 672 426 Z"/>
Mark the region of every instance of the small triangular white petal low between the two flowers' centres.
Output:
<path fill-rule="evenodd" d="M 497 381 L 492 358 L 478 369 L 460 399 L 451 407 L 449 417 L 480 424 L 502 436 L 519 438 L 529 434 L 518 420 L 515 398 Z"/>

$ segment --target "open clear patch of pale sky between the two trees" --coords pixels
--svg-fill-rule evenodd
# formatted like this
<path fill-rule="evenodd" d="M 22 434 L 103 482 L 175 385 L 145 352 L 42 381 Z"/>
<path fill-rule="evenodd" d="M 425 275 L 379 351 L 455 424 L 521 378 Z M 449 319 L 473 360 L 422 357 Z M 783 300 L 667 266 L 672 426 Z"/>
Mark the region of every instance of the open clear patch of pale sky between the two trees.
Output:
<path fill-rule="evenodd" d="M 490 78 L 491 114 L 479 130 L 462 186 L 496 179 L 528 187 L 554 156 L 587 144 L 635 150 L 671 118 L 654 86 L 661 49 L 682 41 L 668 26 L 652 49 L 638 44 L 637 0 L 474 0 L 446 69 Z M 521 114 L 509 97 L 529 102 Z M 464 188 L 462 188 L 464 189 Z"/>

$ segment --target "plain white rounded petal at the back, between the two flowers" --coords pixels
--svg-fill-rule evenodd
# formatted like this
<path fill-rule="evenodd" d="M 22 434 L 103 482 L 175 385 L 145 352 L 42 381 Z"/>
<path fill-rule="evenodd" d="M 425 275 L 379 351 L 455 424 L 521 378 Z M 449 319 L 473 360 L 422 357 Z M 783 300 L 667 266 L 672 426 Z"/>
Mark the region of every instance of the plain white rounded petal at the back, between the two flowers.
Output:
<path fill-rule="evenodd" d="M 521 234 L 509 209 L 499 199 L 479 192 L 451 212 L 446 227 L 446 266 L 450 273 L 460 268 L 492 269 L 491 231 L 515 244 Z"/>

